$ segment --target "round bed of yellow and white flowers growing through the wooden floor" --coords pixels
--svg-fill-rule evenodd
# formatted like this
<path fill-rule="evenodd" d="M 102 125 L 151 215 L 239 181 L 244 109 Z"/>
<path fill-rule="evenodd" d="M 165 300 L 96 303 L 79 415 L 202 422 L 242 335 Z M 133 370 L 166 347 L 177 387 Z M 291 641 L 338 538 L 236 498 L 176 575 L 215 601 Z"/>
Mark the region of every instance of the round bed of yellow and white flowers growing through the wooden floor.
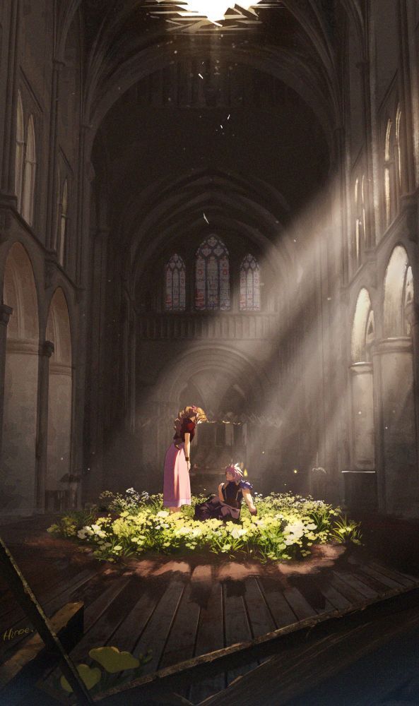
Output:
<path fill-rule="evenodd" d="M 105 561 L 199 550 L 266 562 L 308 556 L 314 544 L 360 544 L 359 524 L 348 522 L 339 508 L 323 501 L 290 493 L 265 497 L 255 493 L 257 517 L 244 506 L 241 522 L 235 524 L 194 520 L 194 505 L 205 499 L 194 497 L 191 505 L 170 515 L 161 495 L 148 496 L 132 488 L 123 495 L 105 491 L 100 496 L 105 505 L 64 515 L 48 532 L 91 546 L 93 554 Z"/>

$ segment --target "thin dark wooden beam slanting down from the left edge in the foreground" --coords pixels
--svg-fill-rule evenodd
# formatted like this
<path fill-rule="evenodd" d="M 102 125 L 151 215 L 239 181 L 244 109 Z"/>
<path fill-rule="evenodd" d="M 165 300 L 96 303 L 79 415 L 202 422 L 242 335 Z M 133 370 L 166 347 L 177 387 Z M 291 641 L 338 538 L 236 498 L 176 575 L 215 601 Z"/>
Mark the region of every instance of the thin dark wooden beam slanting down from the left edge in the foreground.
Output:
<path fill-rule="evenodd" d="M 42 607 L 37 602 L 35 595 L 33 594 L 28 582 L 23 577 L 16 561 L 11 556 L 6 544 L 4 544 L 3 539 L 0 537 L 0 572 L 2 578 L 6 580 L 9 587 L 13 591 L 16 600 L 20 604 L 20 607 L 25 612 L 28 619 L 37 629 L 40 637 L 42 638 L 45 646 L 52 654 L 59 658 L 59 663 L 61 671 L 69 682 L 71 688 L 78 702 L 82 705 L 92 704 L 93 700 L 88 693 L 76 667 L 74 666 L 72 660 L 64 650 L 57 633 L 55 633 L 52 623 L 45 615 Z"/>

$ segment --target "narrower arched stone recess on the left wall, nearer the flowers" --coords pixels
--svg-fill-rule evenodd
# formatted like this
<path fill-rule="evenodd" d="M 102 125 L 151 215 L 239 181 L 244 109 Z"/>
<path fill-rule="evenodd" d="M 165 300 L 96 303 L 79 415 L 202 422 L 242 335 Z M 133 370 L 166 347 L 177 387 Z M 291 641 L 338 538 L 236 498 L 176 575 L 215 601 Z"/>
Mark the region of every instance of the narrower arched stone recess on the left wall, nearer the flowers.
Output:
<path fill-rule="evenodd" d="M 71 476 L 71 330 L 69 310 L 61 288 L 52 297 L 47 340 L 54 344 L 49 361 L 48 445 L 45 508 L 61 510 L 76 505 L 78 480 Z"/>

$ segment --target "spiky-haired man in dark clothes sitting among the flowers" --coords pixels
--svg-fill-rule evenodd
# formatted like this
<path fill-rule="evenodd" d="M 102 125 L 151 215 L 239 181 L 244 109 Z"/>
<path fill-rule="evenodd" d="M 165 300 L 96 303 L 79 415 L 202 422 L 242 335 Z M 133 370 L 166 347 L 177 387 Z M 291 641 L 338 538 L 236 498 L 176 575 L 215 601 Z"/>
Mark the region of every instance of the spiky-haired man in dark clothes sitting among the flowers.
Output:
<path fill-rule="evenodd" d="M 251 515 L 257 515 L 250 491 L 253 486 L 248 481 L 243 480 L 243 473 L 240 467 L 230 465 L 225 468 L 225 483 L 218 486 L 218 497 L 213 495 L 205 503 L 196 505 L 195 520 L 228 520 L 238 522 L 240 520 L 240 505 L 242 499 L 247 503 Z"/>

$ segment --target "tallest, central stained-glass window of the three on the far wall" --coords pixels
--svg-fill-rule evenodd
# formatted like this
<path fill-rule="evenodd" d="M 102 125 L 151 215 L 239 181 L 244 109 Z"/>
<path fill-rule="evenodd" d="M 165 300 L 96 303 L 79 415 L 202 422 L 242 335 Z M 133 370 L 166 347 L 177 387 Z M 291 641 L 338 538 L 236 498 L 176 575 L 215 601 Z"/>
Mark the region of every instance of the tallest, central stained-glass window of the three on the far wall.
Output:
<path fill-rule="evenodd" d="M 195 308 L 199 311 L 230 309 L 228 250 L 214 235 L 203 241 L 196 253 Z"/>

